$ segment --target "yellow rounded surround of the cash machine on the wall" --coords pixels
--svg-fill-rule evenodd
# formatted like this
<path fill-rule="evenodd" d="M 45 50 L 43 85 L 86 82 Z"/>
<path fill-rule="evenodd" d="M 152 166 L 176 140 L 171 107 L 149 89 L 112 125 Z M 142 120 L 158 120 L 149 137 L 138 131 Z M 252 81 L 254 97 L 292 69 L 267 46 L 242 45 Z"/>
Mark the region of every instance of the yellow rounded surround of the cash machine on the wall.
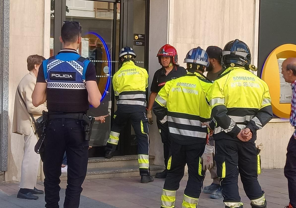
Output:
<path fill-rule="evenodd" d="M 289 118 L 291 112 L 290 103 L 280 103 L 280 77 L 277 59 L 296 57 L 296 45 L 284 44 L 274 49 L 267 57 L 261 74 L 268 87 L 271 96 L 273 113 L 279 118 Z"/>

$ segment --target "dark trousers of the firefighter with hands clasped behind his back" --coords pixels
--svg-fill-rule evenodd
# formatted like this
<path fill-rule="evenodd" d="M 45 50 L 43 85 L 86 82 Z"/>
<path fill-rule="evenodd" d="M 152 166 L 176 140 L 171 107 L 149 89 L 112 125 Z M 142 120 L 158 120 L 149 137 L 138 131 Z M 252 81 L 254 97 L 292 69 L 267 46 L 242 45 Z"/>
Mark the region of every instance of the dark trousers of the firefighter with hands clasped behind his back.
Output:
<path fill-rule="evenodd" d="M 215 148 L 217 175 L 220 178 L 223 202 L 226 207 L 234 208 L 243 205 L 237 185 L 239 174 L 251 205 L 266 206 L 264 192 L 257 179 L 261 169 L 260 156 L 255 143 L 220 139 L 215 141 Z"/>

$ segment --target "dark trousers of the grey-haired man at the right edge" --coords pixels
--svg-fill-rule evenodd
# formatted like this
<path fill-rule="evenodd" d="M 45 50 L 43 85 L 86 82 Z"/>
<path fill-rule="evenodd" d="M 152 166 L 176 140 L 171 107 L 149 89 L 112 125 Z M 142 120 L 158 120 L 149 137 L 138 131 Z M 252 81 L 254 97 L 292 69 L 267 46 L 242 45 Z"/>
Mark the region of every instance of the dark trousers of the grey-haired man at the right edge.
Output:
<path fill-rule="evenodd" d="M 296 139 L 293 135 L 287 147 L 287 160 L 284 173 L 288 179 L 290 204 L 296 208 Z"/>

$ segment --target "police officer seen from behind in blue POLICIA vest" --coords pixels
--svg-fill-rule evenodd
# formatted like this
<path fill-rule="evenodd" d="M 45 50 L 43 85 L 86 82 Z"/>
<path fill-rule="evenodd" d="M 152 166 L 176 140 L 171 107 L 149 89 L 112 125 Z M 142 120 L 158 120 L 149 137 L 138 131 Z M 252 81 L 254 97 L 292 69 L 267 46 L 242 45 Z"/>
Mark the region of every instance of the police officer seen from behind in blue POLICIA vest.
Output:
<path fill-rule="evenodd" d="M 68 185 L 64 207 L 79 207 L 89 148 L 82 120 L 89 104 L 97 108 L 102 97 L 94 65 L 76 51 L 81 43 L 81 32 L 79 22 L 64 22 L 60 37 L 64 49 L 43 61 L 32 95 L 36 107 L 47 100 L 49 114 L 43 152 L 47 208 L 59 207 L 59 176 L 65 151 Z"/>

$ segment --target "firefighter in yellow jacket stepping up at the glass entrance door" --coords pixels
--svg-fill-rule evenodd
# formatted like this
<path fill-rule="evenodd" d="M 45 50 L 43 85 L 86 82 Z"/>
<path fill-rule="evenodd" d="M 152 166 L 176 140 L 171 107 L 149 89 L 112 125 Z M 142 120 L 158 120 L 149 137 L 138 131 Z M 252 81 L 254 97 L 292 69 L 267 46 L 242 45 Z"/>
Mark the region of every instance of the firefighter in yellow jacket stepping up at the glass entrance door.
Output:
<path fill-rule="evenodd" d="M 149 171 L 148 119 L 146 117 L 146 88 L 148 73 L 135 64 L 136 53 L 130 47 L 121 49 L 119 58 L 121 68 L 113 76 L 115 96 L 118 96 L 117 111 L 110 137 L 106 144 L 106 158 L 114 155 L 119 141 L 120 131 L 128 120 L 131 121 L 138 139 L 138 162 L 141 183 L 153 181 Z"/>

